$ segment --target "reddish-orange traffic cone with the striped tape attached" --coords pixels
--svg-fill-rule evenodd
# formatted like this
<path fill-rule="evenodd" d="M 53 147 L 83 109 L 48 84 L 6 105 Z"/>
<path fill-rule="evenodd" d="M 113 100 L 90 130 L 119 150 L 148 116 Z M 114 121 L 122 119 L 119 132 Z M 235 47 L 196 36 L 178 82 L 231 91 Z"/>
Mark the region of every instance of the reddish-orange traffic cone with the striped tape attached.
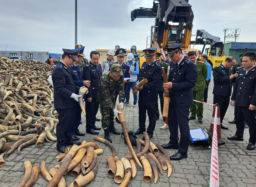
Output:
<path fill-rule="evenodd" d="M 221 138 L 221 128 L 220 128 L 220 108 L 219 105 L 214 106 L 213 108 L 213 113 L 212 113 L 212 121 L 210 124 L 210 129 L 209 131 L 213 134 L 213 127 L 214 127 L 214 118 L 215 118 L 215 109 L 217 107 L 217 140 L 218 140 L 218 145 L 224 145 L 225 142 Z"/>

